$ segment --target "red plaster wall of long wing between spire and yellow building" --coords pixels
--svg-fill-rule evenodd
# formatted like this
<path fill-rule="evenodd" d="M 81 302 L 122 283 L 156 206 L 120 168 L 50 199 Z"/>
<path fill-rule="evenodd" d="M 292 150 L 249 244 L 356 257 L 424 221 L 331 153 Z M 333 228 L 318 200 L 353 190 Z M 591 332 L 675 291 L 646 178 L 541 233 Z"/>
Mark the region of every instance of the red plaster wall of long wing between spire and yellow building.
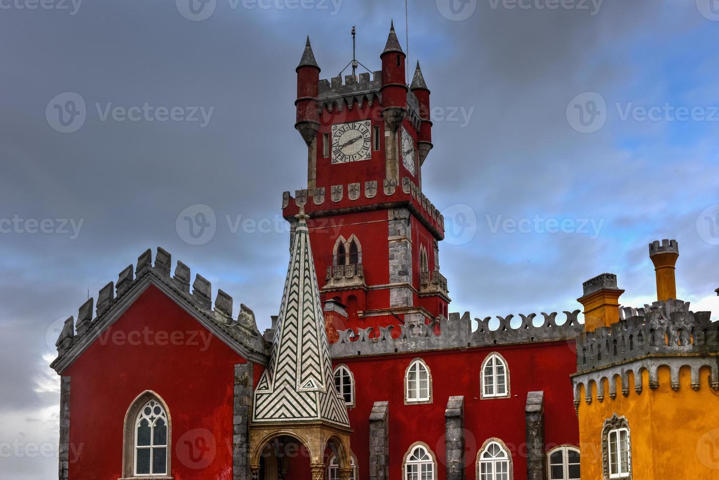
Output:
<path fill-rule="evenodd" d="M 354 373 L 356 407 L 349 411 L 354 429 L 352 451 L 359 461 L 359 479 L 366 480 L 369 462 L 369 422 L 374 402 L 388 400 L 390 417 L 390 479 L 403 478 L 402 463 L 410 445 L 422 441 L 434 451 L 439 479 L 444 467 L 444 409 L 453 395 L 464 396 L 467 433 L 467 480 L 476 478 L 477 450 L 496 437 L 510 448 L 515 480 L 526 479 L 524 408 L 528 391 L 544 390 L 545 445 L 579 445 L 579 427 L 572 402 L 576 357 L 574 343 L 541 343 L 501 348 L 474 348 L 423 353 L 432 375 L 433 403 L 404 404 L 404 373 L 415 354 L 388 358 L 347 358 Z M 491 352 L 500 353 L 510 371 L 508 399 L 480 399 L 480 370 Z M 335 362 L 340 363 L 340 361 Z"/>

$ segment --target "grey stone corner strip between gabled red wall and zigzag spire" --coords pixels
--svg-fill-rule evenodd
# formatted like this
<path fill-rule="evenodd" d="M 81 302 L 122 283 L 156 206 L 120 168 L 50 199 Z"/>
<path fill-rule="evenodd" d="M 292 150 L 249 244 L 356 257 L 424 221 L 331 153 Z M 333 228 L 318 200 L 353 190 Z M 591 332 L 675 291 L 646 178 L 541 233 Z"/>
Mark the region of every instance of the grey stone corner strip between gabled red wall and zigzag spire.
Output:
<path fill-rule="evenodd" d="M 249 480 L 249 418 L 252 415 L 253 363 L 234 366 L 232 480 Z"/>

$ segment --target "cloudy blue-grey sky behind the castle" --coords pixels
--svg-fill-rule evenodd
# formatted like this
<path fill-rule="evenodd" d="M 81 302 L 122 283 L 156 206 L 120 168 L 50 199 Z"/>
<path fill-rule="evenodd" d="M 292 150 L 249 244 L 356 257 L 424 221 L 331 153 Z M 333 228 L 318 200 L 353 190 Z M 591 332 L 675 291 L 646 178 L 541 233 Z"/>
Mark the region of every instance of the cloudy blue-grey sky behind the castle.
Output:
<path fill-rule="evenodd" d="M 423 186 L 449 230 L 450 311 L 577 309 L 605 271 L 640 306 L 655 296 L 647 243 L 669 237 L 680 298 L 719 312 L 717 1 L 463 1 L 409 2 L 410 61 L 438 107 Z M 143 250 L 268 326 L 281 194 L 306 186 L 305 37 L 321 78 L 352 58 L 352 25 L 371 70 L 390 19 L 406 43 L 402 0 L 194 7 L 0 0 L 1 479 L 56 474 L 56 320 Z M 197 204 L 216 232 L 190 245 L 176 219 Z"/>

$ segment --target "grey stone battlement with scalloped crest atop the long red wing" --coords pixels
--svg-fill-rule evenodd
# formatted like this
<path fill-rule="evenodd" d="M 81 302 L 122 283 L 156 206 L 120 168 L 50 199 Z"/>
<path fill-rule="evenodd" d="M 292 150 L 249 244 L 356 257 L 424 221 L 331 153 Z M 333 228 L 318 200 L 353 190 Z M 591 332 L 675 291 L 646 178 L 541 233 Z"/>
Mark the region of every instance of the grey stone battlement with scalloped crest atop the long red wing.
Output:
<path fill-rule="evenodd" d="M 470 312 L 462 317 L 459 313 L 449 314 L 449 320 L 439 317 L 430 325 L 394 327 L 369 327 L 340 331 L 339 340 L 330 345 L 333 358 L 350 356 L 387 355 L 390 353 L 408 353 L 426 350 L 447 350 L 453 348 L 488 347 L 493 345 L 513 345 L 533 342 L 555 342 L 574 339 L 582 332 L 577 321 L 579 310 L 564 312 L 567 319 L 557 324 L 557 312 L 544 313 L 542 325 L 534 325 L 536 314 L 520 314 L 521 325 L 512 327 L 514 315 L 497 317 L 499 326 L 490 328 L 492 317 L 472 320 Z M 472 322 L 477 329 L 472 331 Z M 439 327 L 439 328 L 437 328 Z"/>

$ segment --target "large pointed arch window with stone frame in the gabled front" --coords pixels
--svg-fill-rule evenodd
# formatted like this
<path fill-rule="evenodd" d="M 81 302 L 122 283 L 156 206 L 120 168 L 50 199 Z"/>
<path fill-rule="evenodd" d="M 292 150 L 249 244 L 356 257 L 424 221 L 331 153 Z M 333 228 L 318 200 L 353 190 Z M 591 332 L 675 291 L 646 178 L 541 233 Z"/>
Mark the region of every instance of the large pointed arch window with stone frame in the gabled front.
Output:
<path fill-rule="evenodd" d="M 152 391 L 132 402 L 124 422 L 123 478 L 170 477 L 172 421 L 167 405 Z"/>

